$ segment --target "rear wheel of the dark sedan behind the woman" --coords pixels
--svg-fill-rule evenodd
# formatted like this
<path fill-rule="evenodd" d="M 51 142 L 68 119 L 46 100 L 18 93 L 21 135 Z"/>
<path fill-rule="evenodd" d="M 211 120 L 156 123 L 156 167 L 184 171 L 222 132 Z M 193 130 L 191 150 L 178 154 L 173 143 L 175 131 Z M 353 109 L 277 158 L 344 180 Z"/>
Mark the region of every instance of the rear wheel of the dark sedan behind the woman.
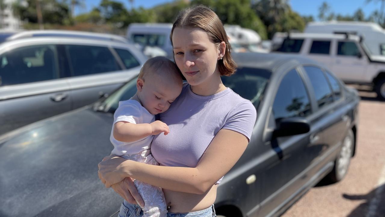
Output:
<path fill-rule="evenodd" d="M 329 174 L 329 178 L 332 182 L 339 182 L 345 177 L 350 165 L 350 159 L 353 155 L 353 148 L 354 133 L 353 130 L 350 129 L 342 141 L 340 153 L 338 153 L 334 163 L 334 168 Z"/>

